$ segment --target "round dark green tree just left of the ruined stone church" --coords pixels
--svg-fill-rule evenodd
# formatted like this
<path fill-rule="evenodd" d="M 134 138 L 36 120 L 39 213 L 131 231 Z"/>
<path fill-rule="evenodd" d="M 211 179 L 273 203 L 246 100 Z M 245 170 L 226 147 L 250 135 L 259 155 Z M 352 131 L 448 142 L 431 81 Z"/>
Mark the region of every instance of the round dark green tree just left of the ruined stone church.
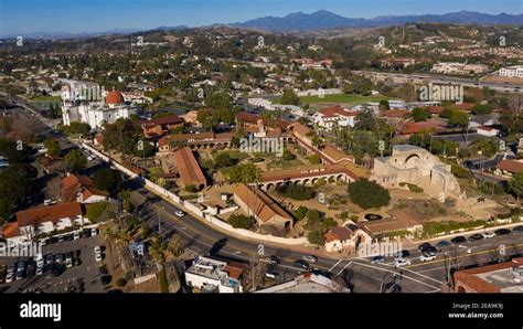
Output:
<path fill-rule="evenodd" d="M 367 179 L 350 183 L 348 190 L 352 202 L 363 209 L 380 208 L 391 202 L 388 190 Z"/>

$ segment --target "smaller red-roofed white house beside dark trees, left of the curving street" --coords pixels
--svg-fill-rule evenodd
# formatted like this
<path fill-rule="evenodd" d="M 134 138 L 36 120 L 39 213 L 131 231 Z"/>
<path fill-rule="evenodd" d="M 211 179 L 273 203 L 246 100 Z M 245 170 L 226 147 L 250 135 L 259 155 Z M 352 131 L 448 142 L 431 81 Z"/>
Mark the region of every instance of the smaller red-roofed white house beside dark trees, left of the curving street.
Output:
<path fill-rule="evenodd" d="M 62 189 L 64 197 L 62 202 L 96 203 L 106 201 L 109 195 L 97 189 L 90 178 L 73 173 L 62 180 Z"/>

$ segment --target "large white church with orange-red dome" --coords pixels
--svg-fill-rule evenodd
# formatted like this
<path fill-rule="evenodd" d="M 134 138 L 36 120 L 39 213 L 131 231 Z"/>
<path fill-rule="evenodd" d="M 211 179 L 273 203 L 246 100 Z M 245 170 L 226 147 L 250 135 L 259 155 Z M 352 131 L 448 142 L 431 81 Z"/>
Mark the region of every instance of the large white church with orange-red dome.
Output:
<path fill-rule="evenodd" d="M 119 118 L 128 118 L 137 108 L 127 105 L 120 92 L 106 93 L 97 84 L 67 81 L 62 89 L 62 116 L 64 126 L 73 121 L 100 128 L 105 123 L 114 124 Z"/>

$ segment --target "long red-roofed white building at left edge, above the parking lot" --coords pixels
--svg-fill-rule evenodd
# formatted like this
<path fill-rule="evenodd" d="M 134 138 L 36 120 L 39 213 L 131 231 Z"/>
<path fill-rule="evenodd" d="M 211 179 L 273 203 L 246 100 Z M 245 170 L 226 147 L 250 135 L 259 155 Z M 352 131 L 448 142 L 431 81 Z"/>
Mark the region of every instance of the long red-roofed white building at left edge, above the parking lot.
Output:
<path fill-rule="evenodd" d="M 3 237 L 18 243 L 29 242 L 35 235 L 64 230 L 73 223 L 83 225 L 88 222 L 83 214 L 82 204 L 76 201 L 19 211 L 17 222 L 3 226 Z"/>

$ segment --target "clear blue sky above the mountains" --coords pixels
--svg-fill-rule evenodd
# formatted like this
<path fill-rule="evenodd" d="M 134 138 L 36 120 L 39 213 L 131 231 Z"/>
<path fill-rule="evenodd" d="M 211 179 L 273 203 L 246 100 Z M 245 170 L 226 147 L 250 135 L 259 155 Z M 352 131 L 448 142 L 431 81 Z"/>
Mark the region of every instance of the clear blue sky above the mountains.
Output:
<path fill-rule="evenodd" d="M 325 9 L 351 18 L 523 12 L 523 0 L 0 0 L 0 35 L 232 23 Z"/>

